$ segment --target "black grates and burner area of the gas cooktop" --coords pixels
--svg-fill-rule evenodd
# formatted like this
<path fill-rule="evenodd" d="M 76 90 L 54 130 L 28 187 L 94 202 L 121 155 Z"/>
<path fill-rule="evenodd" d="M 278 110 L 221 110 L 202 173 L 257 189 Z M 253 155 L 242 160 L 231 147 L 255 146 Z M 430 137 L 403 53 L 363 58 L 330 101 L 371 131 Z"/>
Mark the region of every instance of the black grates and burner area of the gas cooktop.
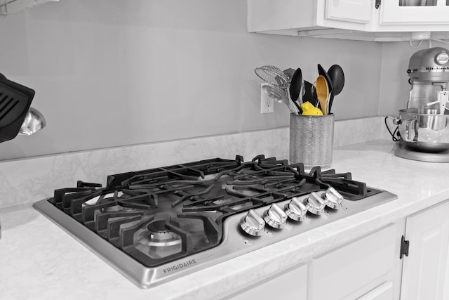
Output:
<path fill-rule="evenodd" d="M 380 193 L 350 173 L 304 171 L 303 164 L 257 155 L 250 162 L 206 159 L 114 174 L 107 185 L 78 181 L 55 190 L 55 207 L 147 267 L 220 244 L 229 216 L 333 187 L 350 201 Z M 152 233 L 151 228 L 167 232 Z M 237 228 L 236 228 L 237 229 Z M 154 240 L 169 237 L 167 241 Z M 167 249 L 167 250 L 163 250 Z"/>

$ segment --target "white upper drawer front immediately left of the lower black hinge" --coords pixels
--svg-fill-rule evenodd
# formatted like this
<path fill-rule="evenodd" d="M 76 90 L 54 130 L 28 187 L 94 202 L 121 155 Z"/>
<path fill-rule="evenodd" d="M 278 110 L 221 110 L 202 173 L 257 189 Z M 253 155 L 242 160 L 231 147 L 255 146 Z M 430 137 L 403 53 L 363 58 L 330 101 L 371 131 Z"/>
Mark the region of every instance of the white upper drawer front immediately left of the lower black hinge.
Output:
<path fill-rule="evenodd" d="M 373 287 L 371 282 L 394 270 L 396 229 L 384 228 L 311 262 L 310 299 L 342 299 Z M 398 257 L 396 257 L 398 259 Z M 367 291 L 362 290 L 367 286 Z"/>

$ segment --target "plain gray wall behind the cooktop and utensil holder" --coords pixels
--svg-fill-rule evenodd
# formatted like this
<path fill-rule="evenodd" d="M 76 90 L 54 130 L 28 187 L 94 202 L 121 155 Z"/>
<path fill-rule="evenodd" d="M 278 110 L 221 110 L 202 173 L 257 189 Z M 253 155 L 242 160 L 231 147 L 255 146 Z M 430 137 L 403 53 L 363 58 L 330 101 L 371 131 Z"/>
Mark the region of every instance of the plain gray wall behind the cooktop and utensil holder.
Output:
<path fill-rule="evenodd" d="M 8 16 L 0 37 L 0 72 L 48 123 L 0 160 L 288 126 L 284 105 L 260 114 L 260 65 L 312 82 L 317 63 L 341 65 L 336 119 L 394 113 L 405 89 L 396 46 L 248 33 L 243 0 L 61 0 Z"/>

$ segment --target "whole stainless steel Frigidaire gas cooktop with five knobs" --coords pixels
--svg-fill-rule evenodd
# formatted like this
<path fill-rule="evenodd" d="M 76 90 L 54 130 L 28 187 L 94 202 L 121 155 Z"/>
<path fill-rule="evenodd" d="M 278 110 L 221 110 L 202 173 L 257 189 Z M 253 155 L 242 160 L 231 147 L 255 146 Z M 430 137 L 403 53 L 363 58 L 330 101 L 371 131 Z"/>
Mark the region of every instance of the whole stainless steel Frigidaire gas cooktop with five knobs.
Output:
<path fill-rule="evenodd" d="M 34 208 L 148 288 L 395 199 L 351 173 L 237 155 L 78 181 Z"/>

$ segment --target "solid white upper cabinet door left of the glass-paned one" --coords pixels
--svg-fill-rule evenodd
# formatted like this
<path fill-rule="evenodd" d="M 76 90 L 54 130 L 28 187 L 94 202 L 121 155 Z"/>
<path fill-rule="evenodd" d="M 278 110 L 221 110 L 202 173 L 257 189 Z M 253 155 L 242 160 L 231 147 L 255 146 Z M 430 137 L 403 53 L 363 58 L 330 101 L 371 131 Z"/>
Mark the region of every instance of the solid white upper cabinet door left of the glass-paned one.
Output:
<path fill-rule="evenodd" d="M 368 23 L 371 2 L 366 0 L 326 0 L 326 19 Z"/>

